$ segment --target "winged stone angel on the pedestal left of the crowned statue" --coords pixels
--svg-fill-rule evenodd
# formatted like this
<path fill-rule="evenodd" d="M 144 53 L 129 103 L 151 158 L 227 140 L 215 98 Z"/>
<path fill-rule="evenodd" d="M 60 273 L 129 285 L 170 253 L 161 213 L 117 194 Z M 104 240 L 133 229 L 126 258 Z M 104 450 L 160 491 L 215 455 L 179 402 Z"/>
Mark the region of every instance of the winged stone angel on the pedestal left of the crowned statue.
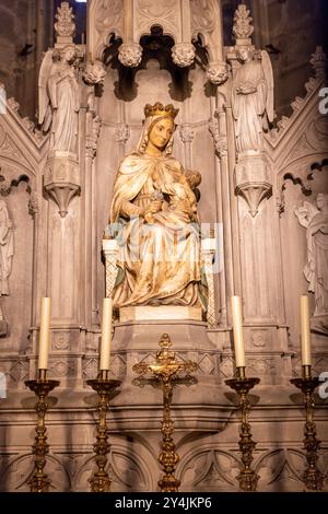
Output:
<path fill-rule="evenodd" d="M 50 153 L 77 155 L 80 90 L 77 79 L 77 51 L 69 45 L 48 50 L 39 72 L 38 121 L 47 132 L 51 127 Z"/>

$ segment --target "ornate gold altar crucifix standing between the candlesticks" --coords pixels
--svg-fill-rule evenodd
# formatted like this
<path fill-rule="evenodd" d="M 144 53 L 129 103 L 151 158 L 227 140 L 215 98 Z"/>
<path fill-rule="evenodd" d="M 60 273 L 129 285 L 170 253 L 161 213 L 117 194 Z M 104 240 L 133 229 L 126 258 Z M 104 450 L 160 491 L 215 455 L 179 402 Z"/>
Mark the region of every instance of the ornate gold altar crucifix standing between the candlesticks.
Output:
<path fill-rule="evenodd" d="M 175 443 L 173 440 L 174 422 L 171 418 L 171 406 L 173 396 L 173 383 L 178 381 L 178 374 L 187 373 L 187 376 L 181 378 L 185 383 L 195 383 L 195 378 L 189 376 L 198 369 L 198 364 L 192 361 L 178 362 L 175 358 L 175 352 L 169 348 L 172 342 L 167 334 L 163 334 L 159 342 L 161 350 L 156 353 L 156 362 L 148 364 L 140 362 L 134 364 L 132 370 L 142 376 L 150 374 L 153 378 L 160 379 L 163 386 L 163 421 L 162 421 L 162 443 L 161 453 L 157 457 L 161 464 L 164 476 L 159 480 L 161 492 L 177 492 L 180 481 L 174 476 L 175 468 L 179 462 L 179 456 L 175 451 Z M 142 378 L 139 377 L 134 383 L 143 385 Z"/>

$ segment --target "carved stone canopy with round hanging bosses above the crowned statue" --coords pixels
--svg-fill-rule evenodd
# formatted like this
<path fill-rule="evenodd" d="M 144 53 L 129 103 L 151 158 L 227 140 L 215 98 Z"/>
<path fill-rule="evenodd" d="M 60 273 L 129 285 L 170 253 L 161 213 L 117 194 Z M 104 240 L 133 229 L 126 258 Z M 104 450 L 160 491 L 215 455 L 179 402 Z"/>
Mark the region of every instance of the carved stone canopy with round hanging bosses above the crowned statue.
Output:
<path fill-rule="evenodd" d="M 222 52 L 221 10 L 216 0 L 94 0 L 89 7 L 87 55 L 101 59 L 112 35 L 122 39 L 119 61 L 129 68 L 140 65 L 140 38 L 160 26 L 174 40 L 172 59 L 186 68 L 192 65 L 199 37 L 209 54 L 208 80 L 221 84 L 227 78 Z"/>

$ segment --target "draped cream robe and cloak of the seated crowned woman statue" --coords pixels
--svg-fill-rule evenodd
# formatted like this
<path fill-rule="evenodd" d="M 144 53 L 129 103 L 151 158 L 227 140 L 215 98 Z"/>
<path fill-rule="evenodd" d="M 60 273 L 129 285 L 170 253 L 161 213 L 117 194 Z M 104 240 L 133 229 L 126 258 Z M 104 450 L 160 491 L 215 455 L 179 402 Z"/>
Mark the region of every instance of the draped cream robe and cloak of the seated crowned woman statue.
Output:
<path fill-rule="evenodd" d="M 110 209 L 110 223 L 119 232 L 116 307 L 202 306 L 199 225 L 190 223 L 183 210 L 171 210 L 167 201 L 153 223 L 141 215 L 155 190 L 178 182 L 183 173 L 173 157 L 138 153 L 124 159 L 119 167 Z"/>

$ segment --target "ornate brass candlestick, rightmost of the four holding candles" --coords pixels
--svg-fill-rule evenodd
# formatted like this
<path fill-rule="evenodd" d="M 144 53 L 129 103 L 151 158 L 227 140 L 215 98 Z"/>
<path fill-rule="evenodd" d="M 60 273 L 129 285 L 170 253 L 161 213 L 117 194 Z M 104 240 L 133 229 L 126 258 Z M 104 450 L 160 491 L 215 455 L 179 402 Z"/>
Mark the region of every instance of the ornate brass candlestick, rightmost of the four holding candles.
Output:
<path fill-rule="evenodd" d="M 302 479 L 306 491 L 321 491 L 324 487 L 325 475 L 317 468 L 317 452 L 320 441 L 317 440 L 316 424 L 314 418 L 314 390 L 319 385 L 317 376 L 311 374 L 311 366 L 302 366 L 302 378 L 292 378 L 291 383 L 301 389 L 304 395 L 305 424 L 304 424 L 304 449 L 306 452 L 307 467 L 303 472 Z"/>

